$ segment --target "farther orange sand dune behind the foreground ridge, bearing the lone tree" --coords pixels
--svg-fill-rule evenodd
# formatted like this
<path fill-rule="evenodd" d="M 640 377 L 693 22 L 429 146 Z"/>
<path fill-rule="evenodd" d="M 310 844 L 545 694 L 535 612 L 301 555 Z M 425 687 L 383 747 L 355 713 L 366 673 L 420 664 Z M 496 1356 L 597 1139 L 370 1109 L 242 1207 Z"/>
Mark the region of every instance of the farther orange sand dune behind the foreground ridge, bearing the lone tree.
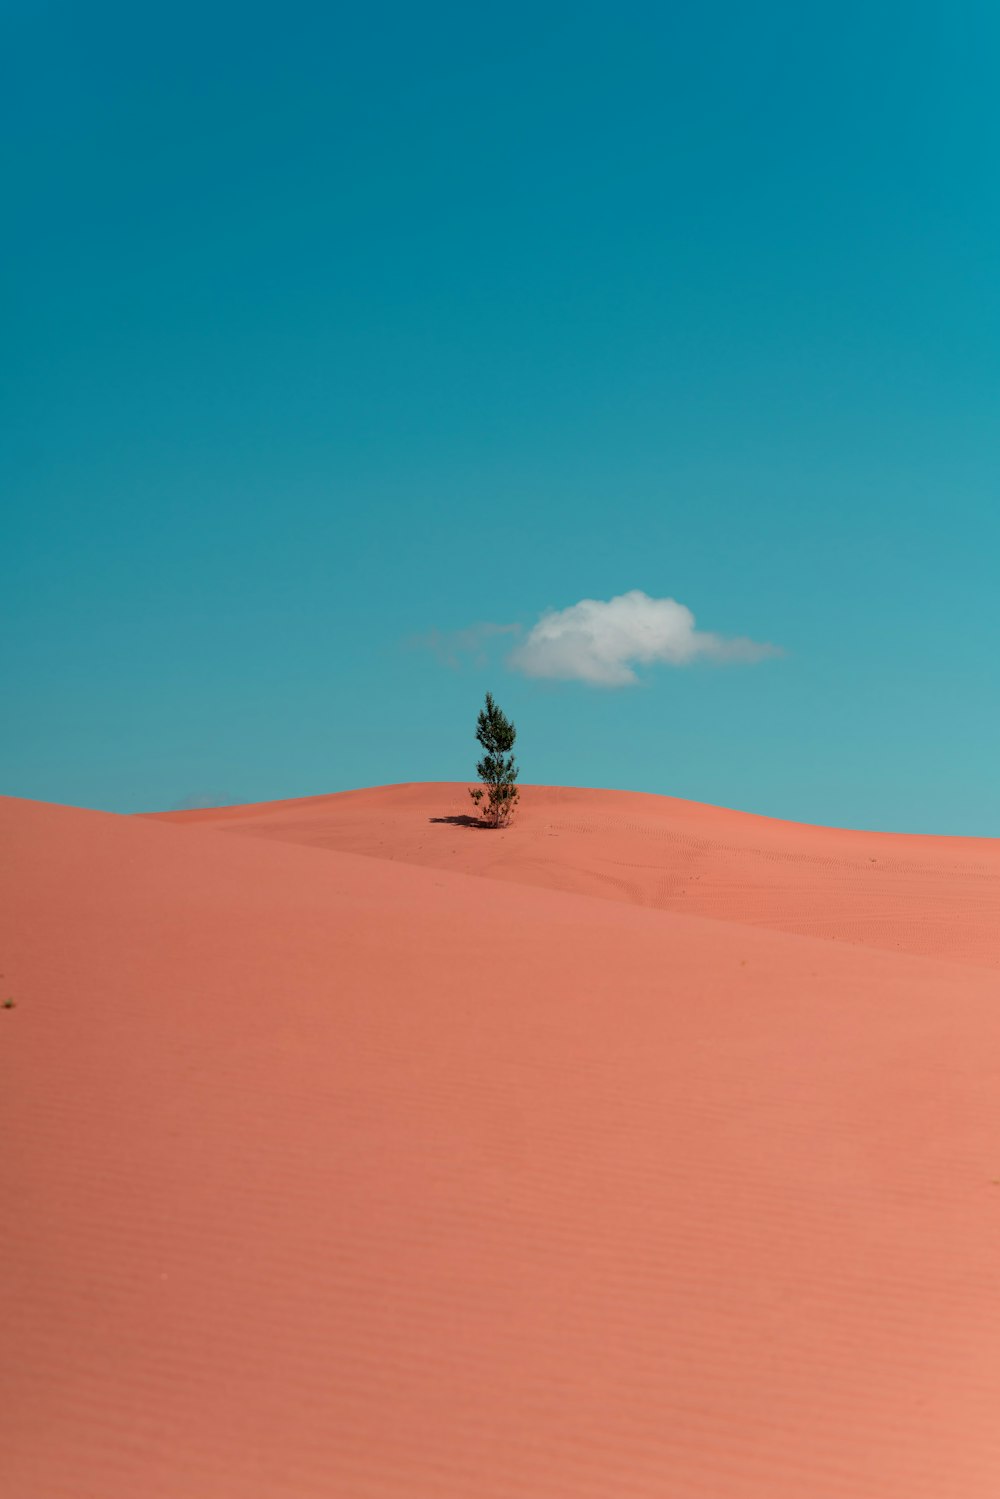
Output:
<path fill-rule="evenodd" d="M 811 827 L 637 791 L 526 787 L 504 832 L 463 784 L 156 814 L 777 931 L 1000 967 L 1000 839 Z"/>

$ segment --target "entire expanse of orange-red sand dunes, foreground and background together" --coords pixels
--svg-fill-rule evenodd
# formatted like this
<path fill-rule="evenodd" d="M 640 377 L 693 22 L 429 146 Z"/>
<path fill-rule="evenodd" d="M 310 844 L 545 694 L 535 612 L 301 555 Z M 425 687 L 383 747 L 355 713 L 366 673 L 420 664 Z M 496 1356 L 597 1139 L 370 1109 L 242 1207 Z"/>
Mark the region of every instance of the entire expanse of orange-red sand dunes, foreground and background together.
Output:
<path fill-rule="evenodd" d="M 996 1499 L 1000 845 L 462 794 L 0 802 L 4 1499 Z"/>

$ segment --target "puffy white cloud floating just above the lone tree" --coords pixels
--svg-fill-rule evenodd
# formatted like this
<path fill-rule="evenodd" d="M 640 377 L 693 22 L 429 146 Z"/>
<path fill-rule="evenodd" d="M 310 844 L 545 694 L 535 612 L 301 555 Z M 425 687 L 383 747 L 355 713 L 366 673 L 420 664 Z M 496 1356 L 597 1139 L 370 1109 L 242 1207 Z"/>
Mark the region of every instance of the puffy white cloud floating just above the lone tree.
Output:
<path fill-rule="evenodd" d="M 631 589 L 618 598 L 582 598 L 568 609 L 549 610 L 510 654 L 508 666 L 525 676 L 631 687 L 639 681 L 637 666 L 750 663 L 774 655 L 781 655 L 780 648 L 696 630 L 684 604 Z"/>

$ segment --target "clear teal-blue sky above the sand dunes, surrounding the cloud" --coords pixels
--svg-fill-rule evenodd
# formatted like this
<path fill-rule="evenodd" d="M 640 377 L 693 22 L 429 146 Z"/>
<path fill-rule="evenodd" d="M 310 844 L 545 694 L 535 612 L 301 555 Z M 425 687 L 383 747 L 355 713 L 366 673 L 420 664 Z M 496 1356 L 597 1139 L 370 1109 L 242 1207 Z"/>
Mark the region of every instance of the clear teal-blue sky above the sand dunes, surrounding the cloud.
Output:
<path fill-rule="evenodd" d="M 462 778 L 489 687 L 529 782 L 1000 833 L 994 6 L 1 25 L 4 791 Z M 510 664 L 634 591 L 783 654 Z"/>

